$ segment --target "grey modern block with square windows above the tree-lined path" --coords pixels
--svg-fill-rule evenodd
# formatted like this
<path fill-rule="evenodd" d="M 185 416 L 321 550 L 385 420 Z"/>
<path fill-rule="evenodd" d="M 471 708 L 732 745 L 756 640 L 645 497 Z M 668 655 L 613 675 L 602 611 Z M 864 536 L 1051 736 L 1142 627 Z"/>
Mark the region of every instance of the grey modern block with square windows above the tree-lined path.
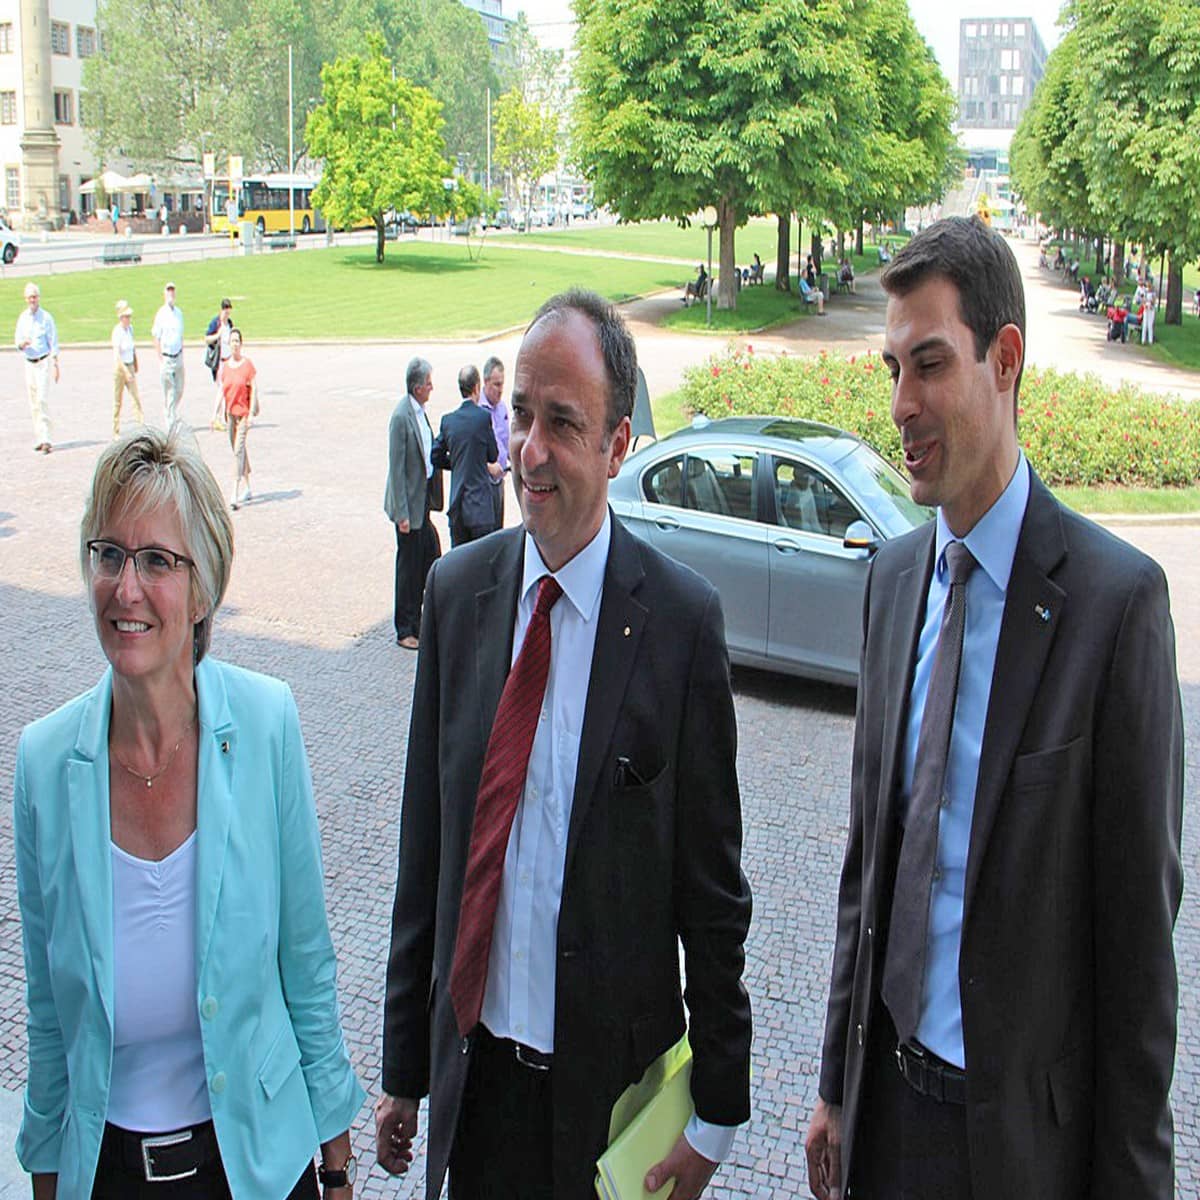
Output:
<path fill-rule="evenodd" d="M 962 19 L 958 127 L 1015 130 L 1045 64 L 1045 43 L 1031 17 Z"/>

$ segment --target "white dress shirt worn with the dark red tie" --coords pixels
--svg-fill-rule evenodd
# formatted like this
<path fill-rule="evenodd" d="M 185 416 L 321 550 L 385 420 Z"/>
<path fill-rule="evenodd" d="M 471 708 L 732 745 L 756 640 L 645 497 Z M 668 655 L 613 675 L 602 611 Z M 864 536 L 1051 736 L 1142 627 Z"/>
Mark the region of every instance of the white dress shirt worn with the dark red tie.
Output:
<path fill-rule="evenodd" d="M 512 662 L 524 643 L 541 577 L 553 575 L 563 595 L 550 611 L 550 672 L 524 791 L 504 856 L 481 1019 L 496 1037 L 522 1042 L 544 1054 L 554 1050 L 566 832 L 611 539 L 612 515 L 606 512 L 592 541 L 558 571 L 546 568 L 529 534 L 524 539 Z M 685 1130 L 692 1148 L 710 1162 L 728 1157 L 736 1132 L 737 1127 L 708 1124 L 696 1116 Z"/>

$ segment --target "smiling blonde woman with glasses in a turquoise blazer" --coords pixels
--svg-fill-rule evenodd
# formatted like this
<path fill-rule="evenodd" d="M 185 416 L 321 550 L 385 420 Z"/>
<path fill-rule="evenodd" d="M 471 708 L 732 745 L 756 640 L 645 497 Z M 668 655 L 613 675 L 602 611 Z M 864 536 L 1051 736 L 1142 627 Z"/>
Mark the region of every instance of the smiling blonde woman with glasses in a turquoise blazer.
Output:
<path fill-rule="evenodd" d="M 208 654 L 233 524 L 190 432 L 101 452 L 79 551 L 108 670 L 22 733 L 13 798 L 35 1200 L 352 1200 L 300 720 Z"/>

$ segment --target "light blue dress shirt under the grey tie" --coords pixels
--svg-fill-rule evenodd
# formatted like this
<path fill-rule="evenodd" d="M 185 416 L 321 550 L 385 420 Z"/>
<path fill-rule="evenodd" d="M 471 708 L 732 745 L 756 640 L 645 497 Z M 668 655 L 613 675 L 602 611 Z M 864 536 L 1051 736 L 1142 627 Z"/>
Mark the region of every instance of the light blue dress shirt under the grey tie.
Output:
<path fill-rule="evenodd" d="M 1021 455 L 1016 470 L 996 503 L 962 539 L 978 568 L 967 581 L 966 629 L 962 635 L 962 666 L 954 708 L 954 727 L 946 764 L 946 804 L 938 814 L 937 866 L 929 902 L 925 982 L 922 990 L 917 1038 L 947 1062 L 966 1066 L 962 1049 L 962 1002 L 959 995 L 959 948 L 962 941 L 962 896 L 974 815 L 979 751 L 983 746 L 991 696 L 991 677 L 1000 642 L 1013 556 L 1030 498 L 1030 466 Z M 912 794 L 917 762 L 917 739 L 925 713 L 934 653 L 942 626 L 942 612 L 949 593 L 946 547 L 955 541 L 949 526 L 937 511 L 937 540 L 934 574 L 925 600 L 925 620 L 917 644 L 917 667 L 905 733 L 904 773 L 900 803 L 906 809 Z"/>

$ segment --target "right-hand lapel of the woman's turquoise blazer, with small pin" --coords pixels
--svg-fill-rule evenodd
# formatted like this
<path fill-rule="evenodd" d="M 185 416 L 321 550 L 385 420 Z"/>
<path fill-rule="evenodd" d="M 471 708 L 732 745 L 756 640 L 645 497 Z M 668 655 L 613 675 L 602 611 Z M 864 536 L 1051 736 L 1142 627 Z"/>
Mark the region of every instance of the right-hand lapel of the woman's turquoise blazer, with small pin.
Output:
<path fill-rule="evenodd" d="M 196 695 L 200 710 L 196 772 L 196 964 L 199 970 L 212 936 L 229 842 L 238 727 L 229 712 L 221 670 L 208 659 L 197 664 Z"/>

